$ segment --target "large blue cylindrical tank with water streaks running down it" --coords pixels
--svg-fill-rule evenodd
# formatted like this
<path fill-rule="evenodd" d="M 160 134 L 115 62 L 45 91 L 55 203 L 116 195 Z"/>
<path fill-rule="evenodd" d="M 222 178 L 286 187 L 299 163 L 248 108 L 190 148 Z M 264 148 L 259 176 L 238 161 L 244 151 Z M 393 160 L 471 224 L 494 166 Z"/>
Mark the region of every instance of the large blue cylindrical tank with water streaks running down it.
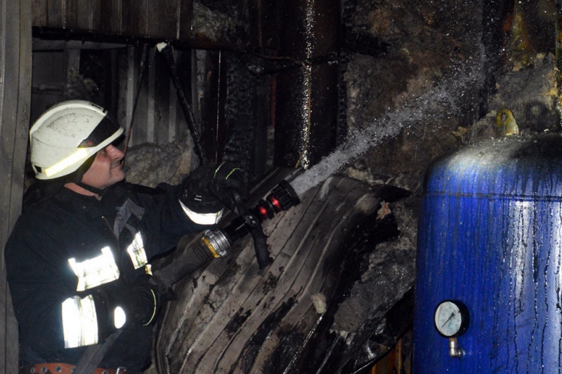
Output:
<path fill-rule="evenodd" d="M 562 371 L 561 201 L 560 134 L 489 140 L 431 164 L 419 216 L 414 373 Z M 444 300 L 469 315 L 451 340 L 460 357 L 434 322 Z M 456 318 L 445 310 L 439 325 Z"/>

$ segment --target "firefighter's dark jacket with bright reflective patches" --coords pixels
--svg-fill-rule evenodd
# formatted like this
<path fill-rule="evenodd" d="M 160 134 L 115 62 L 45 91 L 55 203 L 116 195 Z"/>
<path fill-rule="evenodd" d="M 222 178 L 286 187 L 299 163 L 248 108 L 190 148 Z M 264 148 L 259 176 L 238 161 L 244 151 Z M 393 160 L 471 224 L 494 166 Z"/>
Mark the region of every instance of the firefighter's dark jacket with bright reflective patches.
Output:
<path fill-rule="evenodd" d="M 135 237 L 138 241 L 137 233 L 144 247 L 141 254 L 150 261 L 173 249 L 181 236 L 204 228 L 187 218 L 177 196 L 178 187 L 170 185 L 149 189 L 120 182 L 109 187 L 100 201 L 63 188 L 25 210 L 5 249 L 8 284 L 20 325 L 22 365 L 79 361 L 87 347 L 65 348 L 65 300 L 91 295 L 98 314 L 99 342 L 112 333 L 112 316 L 100 315 L 109 313 L 100 312 L 105 310 L 100 305 L 107 302 L 107 295 L 119 298 L 138 276 L 146 274 L 143 256 L 138 260 L 127 252 Z M 98 281 L 96 272 L 79 275 L 77 268 L 91 269 L 89 261 L 100 257 L 101 248 L 110 248 L 118 270 L 109 273 L 118 279 Z M 133 262 L 139 261 L 136 269 Z M 151 343 L 151 325 L 128 324 L 100 366 L 141 371 L 149 362 Z"/>

